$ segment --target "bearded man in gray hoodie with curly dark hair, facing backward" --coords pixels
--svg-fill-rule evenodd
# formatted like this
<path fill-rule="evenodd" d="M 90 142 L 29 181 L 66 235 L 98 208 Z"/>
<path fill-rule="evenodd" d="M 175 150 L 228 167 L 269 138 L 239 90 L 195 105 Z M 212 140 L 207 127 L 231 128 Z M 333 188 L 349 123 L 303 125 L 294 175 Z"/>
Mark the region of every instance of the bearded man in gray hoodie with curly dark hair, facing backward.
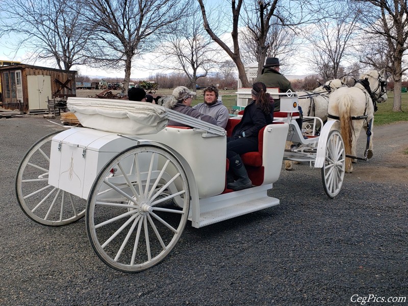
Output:
<path fill-rule="evenodd" d="M 218 89 L 215 86 L 208 86 L 204 89 L 204 102 L 193 106 L 193 109 L 213 117 L 217 125 L 224 129 L 230 117 L 228 109 L 218 100 Z"/>

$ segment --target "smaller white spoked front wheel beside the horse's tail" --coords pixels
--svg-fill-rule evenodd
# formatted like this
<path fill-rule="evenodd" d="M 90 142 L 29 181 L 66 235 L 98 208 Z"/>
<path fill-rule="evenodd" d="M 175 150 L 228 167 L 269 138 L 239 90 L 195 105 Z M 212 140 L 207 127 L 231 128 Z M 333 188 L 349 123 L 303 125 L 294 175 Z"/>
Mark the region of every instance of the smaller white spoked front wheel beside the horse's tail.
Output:
<path fill-rule="evenodd" d="M 346 167 L 343 139 L 337 130 L 330 131 L 326 143 L 326 158 L 322 167 L 322 182 L 326 194 L 334 198 L 343 185 Z"/>

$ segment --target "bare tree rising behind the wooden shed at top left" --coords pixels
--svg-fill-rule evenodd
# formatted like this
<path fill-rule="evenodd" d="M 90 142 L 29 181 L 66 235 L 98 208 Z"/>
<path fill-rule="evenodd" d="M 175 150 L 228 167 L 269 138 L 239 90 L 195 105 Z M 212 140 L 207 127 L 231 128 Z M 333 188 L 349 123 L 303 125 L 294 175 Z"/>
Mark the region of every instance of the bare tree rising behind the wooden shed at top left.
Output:
<path fill-rule="evenodd" d="M 73 0 L 4 0 L 0 37 L 13 36 L 16 44 L 9 47 L 25 47 L 36 58 L 55 60 L 60 69 L 83 65 L 90 33 L 79 14 L 84 6 Z"/>

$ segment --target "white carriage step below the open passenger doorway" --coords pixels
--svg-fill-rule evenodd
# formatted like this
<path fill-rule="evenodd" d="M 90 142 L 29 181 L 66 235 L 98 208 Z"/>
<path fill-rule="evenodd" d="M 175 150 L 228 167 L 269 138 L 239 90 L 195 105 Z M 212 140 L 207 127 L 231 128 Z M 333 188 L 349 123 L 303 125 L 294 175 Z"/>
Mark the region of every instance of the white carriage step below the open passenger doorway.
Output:
<path fill-rule="evenodd" d="M 267 195 L 271 188 L 270 184 L 200 199 L 199 222 L 193 226 L 203 227 L 278 205 L 279 199 Z"/>

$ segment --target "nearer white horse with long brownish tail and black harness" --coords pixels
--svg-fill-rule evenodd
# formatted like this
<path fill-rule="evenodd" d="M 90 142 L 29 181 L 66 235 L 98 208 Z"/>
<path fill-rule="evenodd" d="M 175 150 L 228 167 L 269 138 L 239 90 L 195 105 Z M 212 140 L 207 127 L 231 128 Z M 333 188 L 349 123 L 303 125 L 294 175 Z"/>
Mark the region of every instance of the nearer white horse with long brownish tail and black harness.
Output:
<path fill-rule="evenodd" d="M 328 117 L 340 120 L 340 132 L 344 142 L 346 155 L 356 157 L 356 141 L 362 127 L 367 133 L 367 147 L 364 158 L 372 157 L 373 152 L 373 121 L 376 103 L 387 100 L 387 80 L 385 70 L 370 70 L 360 75 L 353 87 L 339 88 L 329 96 Z M 375 109 L 376 110 L 376 109 Z M 350 158 L 346 158 L 346 172 L 352 172 Z"/>

